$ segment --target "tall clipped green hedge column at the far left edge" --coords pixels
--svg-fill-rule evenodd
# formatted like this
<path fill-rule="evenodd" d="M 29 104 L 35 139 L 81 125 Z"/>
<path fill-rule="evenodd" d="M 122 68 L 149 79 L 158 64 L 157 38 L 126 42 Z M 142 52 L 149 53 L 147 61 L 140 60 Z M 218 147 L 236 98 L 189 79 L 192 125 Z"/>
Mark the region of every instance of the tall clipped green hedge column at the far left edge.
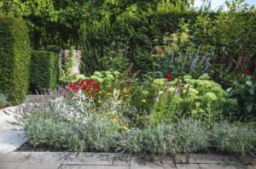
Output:
<path fill-rule="evenodd" d="M 31 48 L 26 23 L 0 16 L 0 93 L 21 102 L 28 89 Z"/>

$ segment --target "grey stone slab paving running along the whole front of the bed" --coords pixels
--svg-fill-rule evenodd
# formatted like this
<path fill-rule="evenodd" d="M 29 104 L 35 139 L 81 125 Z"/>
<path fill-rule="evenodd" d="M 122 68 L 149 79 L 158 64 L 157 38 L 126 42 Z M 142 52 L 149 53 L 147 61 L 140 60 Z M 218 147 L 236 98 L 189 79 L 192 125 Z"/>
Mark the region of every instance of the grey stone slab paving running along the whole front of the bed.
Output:
<path fill-rule="evenodd" d="M 149 158 L 111 153 L 12 152 L 0 159 L 1 169 L 255 169 L 255 165 L 256 159 L 250 156 L 230 155 Z"/>

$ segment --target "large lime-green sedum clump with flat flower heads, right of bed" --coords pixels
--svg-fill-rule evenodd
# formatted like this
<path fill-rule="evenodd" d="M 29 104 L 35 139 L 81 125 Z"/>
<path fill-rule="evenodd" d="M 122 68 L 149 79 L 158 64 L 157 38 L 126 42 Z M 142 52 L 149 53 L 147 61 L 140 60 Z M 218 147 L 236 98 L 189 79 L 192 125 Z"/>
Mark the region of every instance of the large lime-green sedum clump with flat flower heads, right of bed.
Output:
<path fill-rule="evenodd" d="M 209 76 L 192 79 L 183 76 L 169 83 L 164 94 L 165 79 L 155 79 L 152 85 L 154 91 L 160 90 L 159 101 L 152 108 L 152 123 L 161 121 L 178 121 L 191 117 L 200 121 L 207 121 L 212 126 L 213 121 L 224 118 L 224 110 L 233 110 L 236 100 L 230 102 L 228 94 L 222 87 L 208 80 Z M 177 82 L 177 81 L 180 82 Z M 231 105 L 230 105 L 231 104 Z M 227 106 L 230 106 L 228 109 Z"/>

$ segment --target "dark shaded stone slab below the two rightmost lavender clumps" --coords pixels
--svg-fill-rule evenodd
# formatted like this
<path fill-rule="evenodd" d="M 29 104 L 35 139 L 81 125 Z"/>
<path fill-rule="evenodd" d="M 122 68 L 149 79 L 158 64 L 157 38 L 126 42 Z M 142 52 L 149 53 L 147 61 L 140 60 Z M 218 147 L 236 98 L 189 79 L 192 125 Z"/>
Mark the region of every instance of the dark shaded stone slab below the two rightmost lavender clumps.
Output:
<path fill-rule="evenodd" d="M 235 156 L 233 155 L 189 155 L 196 163 L 201 164 L 241 164 Z M 189 161 L 189 163 L 194 163 L 194 161 Z"/>

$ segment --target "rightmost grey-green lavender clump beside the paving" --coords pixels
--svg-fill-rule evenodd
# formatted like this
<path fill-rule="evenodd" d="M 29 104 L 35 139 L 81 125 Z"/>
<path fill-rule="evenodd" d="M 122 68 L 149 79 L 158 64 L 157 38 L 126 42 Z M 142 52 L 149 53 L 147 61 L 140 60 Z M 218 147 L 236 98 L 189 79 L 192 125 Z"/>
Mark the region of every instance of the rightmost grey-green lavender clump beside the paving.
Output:
<path fill-rule="evenodd" d="M 256 152 L 255 127 L 221 122 L 212 128 L 212 144 L 219 150 L 232 154 Z"/>

